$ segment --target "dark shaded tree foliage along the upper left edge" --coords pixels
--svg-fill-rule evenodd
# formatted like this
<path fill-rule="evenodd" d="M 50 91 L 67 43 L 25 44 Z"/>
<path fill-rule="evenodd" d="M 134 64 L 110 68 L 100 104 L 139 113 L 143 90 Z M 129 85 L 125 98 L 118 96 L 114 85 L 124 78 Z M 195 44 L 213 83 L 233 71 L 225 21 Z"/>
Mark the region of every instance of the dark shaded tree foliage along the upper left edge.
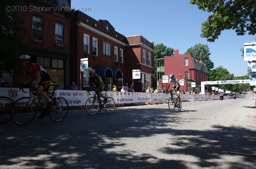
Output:
<path fill-rule="evenodd" d="M 14 6 L 20 6 L 22 0 L 2 0 L 0 6 L 0 71 L 3 73 L 13 73 L 20 67 L 18 56 L 26 54 L 30 48 L 24 42 L 26 34 L 26 23 L 22 20 L 19 10 L 8 11 Z M 9 8 L 8 8 L 9 7 Z M 17 8 L 18 9 L 18 8 Z"/>

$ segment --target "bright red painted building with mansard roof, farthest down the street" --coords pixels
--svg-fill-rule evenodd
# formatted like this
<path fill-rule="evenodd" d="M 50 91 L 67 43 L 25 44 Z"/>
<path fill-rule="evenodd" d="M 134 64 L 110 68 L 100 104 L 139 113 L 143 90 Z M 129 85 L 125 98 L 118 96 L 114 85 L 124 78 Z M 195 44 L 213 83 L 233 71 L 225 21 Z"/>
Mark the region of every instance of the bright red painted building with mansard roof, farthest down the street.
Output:
<path fill-rule="evenodd" d="M 190 54 L 179 54 L 179 50 L 174 50 L 174 56 L 164 56 L 164 69 L 161 69 L 164 75 L 173 73 L 175 77 L 180 80 L 184 79 L 184 85 L 180 86 L 180 90 L 185 91 L 201 91 L 201 82 L 208 81 L 208 70 L 206 64 L 200 60 L 195 59 Z M 160 69 L 158 69 L 160 72 Z M 168 77 L 170 79 L 170 77 Z M 191 86 L 191 82 L 195 81 L 195 87 Z M 158 81 L 159 87 L 166 89 L 166 84 L 162 84 L 162 80 Z M 172 86 L 171 86 L 172 87 Z"/>

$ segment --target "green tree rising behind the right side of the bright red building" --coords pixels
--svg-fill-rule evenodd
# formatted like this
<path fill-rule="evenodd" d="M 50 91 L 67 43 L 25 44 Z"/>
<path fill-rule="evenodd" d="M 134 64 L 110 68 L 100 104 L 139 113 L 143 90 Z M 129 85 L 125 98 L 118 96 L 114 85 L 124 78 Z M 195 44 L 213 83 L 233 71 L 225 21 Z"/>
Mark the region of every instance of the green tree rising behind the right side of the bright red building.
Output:
<path fill-rule="evenodd" d="M 191 54 L 194 58 L 200 60 L 200 54 L 203 56 L 203 62 L 207 65 L 207 70 L 210 72 L 214 68 L 214 63 L 210 59 L 210 50 L 208 45 L 196 44 L 189 48 L 185 54 Z"/>

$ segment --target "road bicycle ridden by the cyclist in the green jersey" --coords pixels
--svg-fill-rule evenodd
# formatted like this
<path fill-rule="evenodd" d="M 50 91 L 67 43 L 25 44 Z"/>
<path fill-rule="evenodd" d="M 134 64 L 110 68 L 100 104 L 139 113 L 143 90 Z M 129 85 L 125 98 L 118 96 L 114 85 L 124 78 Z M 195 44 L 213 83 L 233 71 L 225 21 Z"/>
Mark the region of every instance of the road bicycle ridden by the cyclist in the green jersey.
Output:
<path fill-rule="evenodd" d="M 98 95 L 95 92 L 95 90 L 93 90 L 93 93 L 94 93 L 93 97 L 89 97 L 85 103 L 87 113 L 89 113 L 90 115 L 93 115 L 102 109 L 105 109 L 106 112 L 108 112 L 108 113 L 113 112 L 113 110 L 115 109 L 115 101 L 112 97 L 108 97 L 107 90 L 105 93 L 105 97 L 107 97 L 107 101 L 105 102 L 103 100 L 103 104 L 102 104 L 102 100 L 98 99 Z M 87 93 L 89 93 L 89 95 L 91 95 L 90 90 L 87 90 Z"/>

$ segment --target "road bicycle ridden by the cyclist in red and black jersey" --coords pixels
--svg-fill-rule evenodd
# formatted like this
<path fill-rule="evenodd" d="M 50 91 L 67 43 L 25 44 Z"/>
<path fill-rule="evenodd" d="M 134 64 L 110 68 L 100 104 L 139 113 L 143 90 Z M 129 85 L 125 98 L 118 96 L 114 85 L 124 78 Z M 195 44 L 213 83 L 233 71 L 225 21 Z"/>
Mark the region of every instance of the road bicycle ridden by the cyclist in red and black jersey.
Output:
<path fill-rule="evenodd" d="M 47 93 L 48 96 L 52 99 L 51 104 L 48 104 L 48 101 L 44 98 L 41 100 L 43 103 L 40 103 L 35 91 L 35 88 L 29 88 L 29 97 L 21 97 L 14 102 L 11 111 L 12 121 L 18 125 L 26 125 L 32 122 L 35 119 L 38 111 L 41 111 L 43 115 L 49 115 L 52 121 L 61 121 L 63 120 L 68 113 L 69 106 L 68 102 L 63 97 L 55 97 L 55 90 L 57 90 L 60 85 L 51 85 L 53 90 L 51 93 Z M 22 91 L 25 92 L 23 89 Z"/>

